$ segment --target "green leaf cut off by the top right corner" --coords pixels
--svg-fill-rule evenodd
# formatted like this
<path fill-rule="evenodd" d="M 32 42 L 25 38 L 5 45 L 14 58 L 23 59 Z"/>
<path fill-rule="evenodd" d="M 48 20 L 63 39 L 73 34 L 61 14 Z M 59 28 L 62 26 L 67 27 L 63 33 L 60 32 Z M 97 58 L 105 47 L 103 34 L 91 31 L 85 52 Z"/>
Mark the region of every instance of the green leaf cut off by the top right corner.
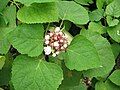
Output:
<path fill-rule="evenodd" d="M 106 7 L 106 15 L 119 17 L 120 16 L 120 5 L 119 0 L 114 0 Z"/>

